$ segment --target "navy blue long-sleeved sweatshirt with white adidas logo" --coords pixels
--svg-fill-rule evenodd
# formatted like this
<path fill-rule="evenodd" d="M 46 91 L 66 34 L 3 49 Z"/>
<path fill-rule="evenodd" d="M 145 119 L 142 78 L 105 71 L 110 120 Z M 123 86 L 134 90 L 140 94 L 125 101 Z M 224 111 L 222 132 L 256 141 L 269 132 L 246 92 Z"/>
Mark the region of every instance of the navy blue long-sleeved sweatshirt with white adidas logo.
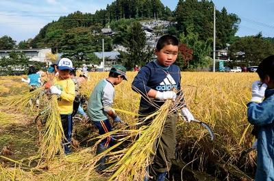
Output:
<path fill-rule="evenodd" d="M 181 74 L 179 67 L 176 65 L 162 67 L 157 64 L 157 61 L 151 61 L 142 66 L 132 82 L 132 89 L 142 95 L 139 113 L 153 113 L 156 110 L 156 107 L 148 101 L 149 99 L 144 98 L 150 89 L 164 92 L 171 91 L 174 87 L 178 91 L 177 96 L 180 96 L 182 94 L 180 81 Z M 183 103 L 184 98 L 181 97 L 180 102 Z M 155 99 L 152 102 L 159 107 L 164 104 L 164 101 Z"/>

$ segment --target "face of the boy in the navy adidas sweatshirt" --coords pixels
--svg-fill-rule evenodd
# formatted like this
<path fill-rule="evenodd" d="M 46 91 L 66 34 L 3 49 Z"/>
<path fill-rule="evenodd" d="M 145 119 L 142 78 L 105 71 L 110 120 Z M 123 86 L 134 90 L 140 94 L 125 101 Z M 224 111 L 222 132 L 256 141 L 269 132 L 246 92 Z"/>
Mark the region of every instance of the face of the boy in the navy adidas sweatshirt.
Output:
<path fill-rule="evenodd" d="M 165 45 L 160 51 L 155 50 L 155 55 L 160 66 L 171 66 L 178 57 L 178 46 L 173 44 Z"/>

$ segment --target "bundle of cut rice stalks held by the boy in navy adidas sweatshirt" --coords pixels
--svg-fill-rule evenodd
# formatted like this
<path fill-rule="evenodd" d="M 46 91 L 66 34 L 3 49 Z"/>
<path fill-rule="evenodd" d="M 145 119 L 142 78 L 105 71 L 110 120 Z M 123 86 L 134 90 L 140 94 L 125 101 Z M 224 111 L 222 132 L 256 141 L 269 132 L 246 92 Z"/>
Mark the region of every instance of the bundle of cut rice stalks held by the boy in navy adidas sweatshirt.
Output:
<path fill-rule="evenodd" d="M 127 130 L 127 128 L 132 126 L 129 125 L 120 130 L 112 130 L 110 133 L 97 137 L 99 141 L 95 143 L 93 150 L 96 148 L 96 145 L 106 137 L 111 136 L 116 139 L 118 143 L 93 157 L 89 167 L 91 165 L 92 168 L 97 167 L 97 161 L 99 161 L 100 158 L 106 157 L 106 165 L 110 166 L 103 171 L 103 175 L 111 175 L 109 180 L 144 180 L 145 176 L 149 176 L 147 167 L 151 165 L 153 156 L 155 156 L 155 148 L 158 147 L 158 140 L 162 135 L 166 117 L 169 113 L 177 110 L 176 106 L 178 105 L 172 102 L 172 100 L 166 100 L 158 111 L 148 115 L 142 120 L 142 122 L 145 122 L 146 120 L 152 119 L 151 124 L 141 126 L 135 130 Z M 140 122 L 135 122 L 134 124 L 136 126 L 140 124 Z M 132 138 L 134 138 L 133 141 Z M 121 149 L 123 143 L 126 143 L 127 146 Z"/>

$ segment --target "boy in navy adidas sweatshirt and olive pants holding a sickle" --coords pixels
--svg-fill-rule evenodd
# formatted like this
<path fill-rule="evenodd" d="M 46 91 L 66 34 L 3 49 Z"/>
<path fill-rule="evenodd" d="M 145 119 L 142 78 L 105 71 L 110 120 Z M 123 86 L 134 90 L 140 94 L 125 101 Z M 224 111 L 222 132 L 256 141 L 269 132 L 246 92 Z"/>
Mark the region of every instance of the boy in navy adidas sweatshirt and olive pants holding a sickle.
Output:
<path fill-rule="evenodd" d="M 177 59 L 178 49 L 179 41 L 175 36 L 162 36 L 158 40 L 155 49 L 157 59 L 143 66 L 134 78 L 132 89 L 142 95 L 139 114 L 149 115 L 161 107 L 165 100 L 175 100 L 179 96 L 180 104 L 178 109 L 182 109 L 184 120 L 187 122 L 195 120 L 184 103 L 179 67 L 173 64 Z M 176 90 L 177 93 L 173 90 Z M 146 97 L 152 98 L 152 100 L 148 100 Z M 164 180 L 166 172 L 171 169 L 171 160 L 175 158 L 176 121 L 177 115 L 175 113 L 166 117 L 166 123 L 151 165 L 151 170 L 153 170 L 153 173 L 151 173 L 155 175 L 158 181 Z M 148 180 L 148 178 L 145 178 L 145 180 Z"/>

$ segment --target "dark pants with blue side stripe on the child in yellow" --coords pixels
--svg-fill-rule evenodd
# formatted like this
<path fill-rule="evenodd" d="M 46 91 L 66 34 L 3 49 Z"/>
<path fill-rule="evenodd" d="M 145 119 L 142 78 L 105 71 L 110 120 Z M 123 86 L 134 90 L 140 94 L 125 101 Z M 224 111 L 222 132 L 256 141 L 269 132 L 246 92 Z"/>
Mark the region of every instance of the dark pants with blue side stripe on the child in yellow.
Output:
<path fill-rule="evenodd" d="M 73 119 L 71 115 L 60 115 L 62 127 L 64 130 L 64 136 L 66 139 L 63 141 L 64 145 L 64 152 L 69 153 L 71 152 L 71 137 L 73 133 Z"/>

